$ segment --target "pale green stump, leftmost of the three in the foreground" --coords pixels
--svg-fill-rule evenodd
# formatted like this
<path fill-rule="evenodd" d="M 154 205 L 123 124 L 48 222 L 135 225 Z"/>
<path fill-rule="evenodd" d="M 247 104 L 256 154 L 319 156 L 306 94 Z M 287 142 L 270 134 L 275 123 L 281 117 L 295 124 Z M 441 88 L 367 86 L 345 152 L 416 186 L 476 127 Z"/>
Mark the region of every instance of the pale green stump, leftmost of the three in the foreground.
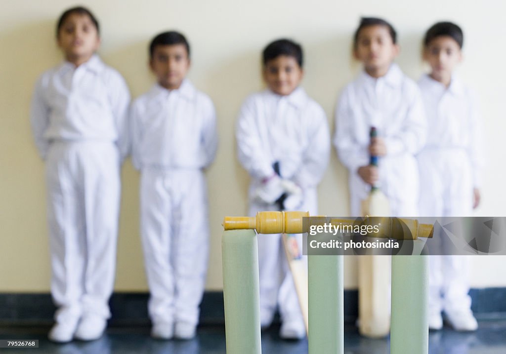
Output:
<path fill-rule="evenodd" d="M 258 243 L 254 230 L 222 236 L 225 336 L 228 354 L 260 354 Z"/>

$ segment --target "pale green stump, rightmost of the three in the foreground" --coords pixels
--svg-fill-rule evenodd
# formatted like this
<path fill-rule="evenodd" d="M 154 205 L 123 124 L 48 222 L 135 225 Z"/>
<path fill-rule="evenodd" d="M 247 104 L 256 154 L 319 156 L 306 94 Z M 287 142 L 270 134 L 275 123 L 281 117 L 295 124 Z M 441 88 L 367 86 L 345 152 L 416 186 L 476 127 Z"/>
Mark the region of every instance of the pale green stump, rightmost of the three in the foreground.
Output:
<path fill-rule="evenodd" d="M 391 354 L 429 352 L 429 257 L 412 242 L 413 255 L 392 256 Z"/>

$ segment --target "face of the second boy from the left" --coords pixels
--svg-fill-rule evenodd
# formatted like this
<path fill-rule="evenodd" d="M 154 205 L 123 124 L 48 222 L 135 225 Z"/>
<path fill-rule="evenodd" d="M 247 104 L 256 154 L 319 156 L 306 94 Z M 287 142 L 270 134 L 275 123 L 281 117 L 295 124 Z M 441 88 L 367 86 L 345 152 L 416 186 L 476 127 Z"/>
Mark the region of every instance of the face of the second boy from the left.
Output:
<path fill-rule="evenodd" d="M 190 68 L 190 58 L 183 44 L 156 46 L 149 66 L 161 86 L 176 90 Z"/>

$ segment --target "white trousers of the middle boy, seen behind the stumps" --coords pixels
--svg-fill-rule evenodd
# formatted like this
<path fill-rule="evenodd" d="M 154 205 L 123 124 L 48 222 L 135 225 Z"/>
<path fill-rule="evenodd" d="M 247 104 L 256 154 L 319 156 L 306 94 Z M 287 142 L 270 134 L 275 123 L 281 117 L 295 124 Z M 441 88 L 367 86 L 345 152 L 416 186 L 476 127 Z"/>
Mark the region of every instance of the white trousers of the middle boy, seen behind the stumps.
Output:
<path fill-rule="evenodd" d="M 309 211 L 310 215 L 317 213 L 316 188 L 304 191 L 304 202 L 297 211 Z M 258 211 L 276 210 L 276 206 L 267 206 L 255 202 L 249 203 L 249 215 L 254 216 Z M 302 253 L 302 235 L 296 235 Z M 288 267 L 283 240 L 280 234 L 259 234 L 259 276 L 260 276 L 260 321 L 262 325 L 270 323 L 279 305 L 282 321 L 301 320 L 302 313 L 297 297 L 297 291 Z M 303 256 L 307 262 L 307 256 Z"/>

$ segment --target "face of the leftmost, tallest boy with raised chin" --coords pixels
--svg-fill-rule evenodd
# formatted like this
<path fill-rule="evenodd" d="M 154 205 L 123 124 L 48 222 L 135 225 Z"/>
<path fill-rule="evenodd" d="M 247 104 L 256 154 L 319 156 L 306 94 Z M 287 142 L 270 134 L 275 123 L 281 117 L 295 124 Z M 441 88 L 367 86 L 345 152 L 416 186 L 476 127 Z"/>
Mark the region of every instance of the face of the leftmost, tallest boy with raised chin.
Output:
<path fill-rule="evenodd" d="M 90 16 L 74 13 L 67 17 L 58 30 L 57 42 L 65 58 L 79 65 L 97 51 L 100 37 Z"/>

